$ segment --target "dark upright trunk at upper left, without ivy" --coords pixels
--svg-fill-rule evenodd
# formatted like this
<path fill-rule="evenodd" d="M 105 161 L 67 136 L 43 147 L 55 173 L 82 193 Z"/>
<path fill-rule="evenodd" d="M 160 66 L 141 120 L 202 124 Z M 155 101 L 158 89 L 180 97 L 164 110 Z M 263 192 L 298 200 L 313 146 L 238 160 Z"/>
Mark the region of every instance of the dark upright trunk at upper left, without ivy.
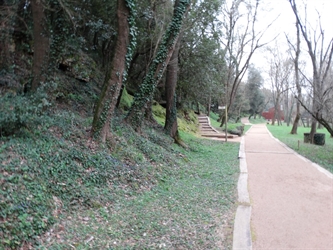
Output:
<path fill-rule="evenodd" d="M 48 58 L 50 52 L 50 39 L 46 29 L 46 17 L 42 1 L 31 0 L 33 18 L 34 57 L 32 66 L 31 90 L 36 91 L 40 82 L 46 79 Z"/>

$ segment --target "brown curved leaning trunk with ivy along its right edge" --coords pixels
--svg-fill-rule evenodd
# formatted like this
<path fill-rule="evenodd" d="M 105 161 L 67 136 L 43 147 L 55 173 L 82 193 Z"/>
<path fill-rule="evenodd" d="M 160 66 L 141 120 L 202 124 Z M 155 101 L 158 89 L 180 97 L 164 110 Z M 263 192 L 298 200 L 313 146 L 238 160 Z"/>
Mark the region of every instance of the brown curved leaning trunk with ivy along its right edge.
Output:
<path fill-rule="evenodd" d="M 96 105 L 92 123 L 92 135 L 105 142 L 112 139 L 110 123 L 113 111 L 120 94 L 124 71 L 126 69 L 126 54 L 130 40 L 128 18 L 131 9 L 126 6 L 126 0 L 118 0 L 118 36 L 115 52 L 113 54 L 111 69 L 106 73 L 104 85 Z"/>

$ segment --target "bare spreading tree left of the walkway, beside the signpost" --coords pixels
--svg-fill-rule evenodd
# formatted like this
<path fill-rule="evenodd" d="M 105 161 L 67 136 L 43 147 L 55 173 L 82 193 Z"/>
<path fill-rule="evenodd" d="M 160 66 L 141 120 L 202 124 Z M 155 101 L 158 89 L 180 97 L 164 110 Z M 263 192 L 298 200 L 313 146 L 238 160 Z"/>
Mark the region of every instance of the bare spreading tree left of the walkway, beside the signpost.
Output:
<path fill-rule="evenodd" d="M 233 105 L 238 87 L 249 67 L 250 60 L 255 51 L 267 43 L 261 43 L 261 39 L 270 26 L 265 30 L 257 32 L 256 21 L 258 16 L 259 1 L 255 0 L 233 0 L 231 7 L 224 6 L 223 25 L 226 37 L 222 39 L 224 49 L 224 60 L 226 62 L 225 71 L 225 104 L 228 109 Z M 242 14 L 245 9 L 247 12 Z M 243 25 L 244 16 L 247 20 Z M 222 117 L 221 126 L 225 122 L 225 116 Z"/>

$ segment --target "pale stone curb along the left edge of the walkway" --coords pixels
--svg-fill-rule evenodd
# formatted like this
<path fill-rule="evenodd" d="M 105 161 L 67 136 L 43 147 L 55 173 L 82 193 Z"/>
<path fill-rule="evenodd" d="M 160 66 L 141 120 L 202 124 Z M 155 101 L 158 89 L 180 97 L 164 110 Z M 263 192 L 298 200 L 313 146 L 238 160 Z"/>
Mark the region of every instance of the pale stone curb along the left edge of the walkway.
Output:
<path fill-rule="evenodd" d="M 245 141 L 242 137 L 239 147 L 239 168 L 240 175 L 237 184 L 238 202 L 240 205 L 237 207 L 234 232 L 233 232 L 233 250 L 251 250 L 251 204 L 250 196 L 247 189 L 247 163 L 245 156 Z"/>

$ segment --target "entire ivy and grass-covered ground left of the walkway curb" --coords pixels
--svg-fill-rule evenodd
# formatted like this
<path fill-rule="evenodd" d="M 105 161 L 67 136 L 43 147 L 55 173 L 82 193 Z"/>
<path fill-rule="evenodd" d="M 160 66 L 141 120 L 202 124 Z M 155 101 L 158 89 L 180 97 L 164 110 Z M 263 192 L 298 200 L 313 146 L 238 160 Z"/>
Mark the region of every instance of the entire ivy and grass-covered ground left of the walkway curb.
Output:
<path fill-rule="evenodd" d="M 182 132 L 186 151 L 122 113 L 115 146 L 91 143 L 74 93 L 60 98 L 74 108 L 53 102 L 0 138 L 0 249 L 231 249 L 237 144 Z M 195 116 L 182 116 L 194 133 Z"/>

